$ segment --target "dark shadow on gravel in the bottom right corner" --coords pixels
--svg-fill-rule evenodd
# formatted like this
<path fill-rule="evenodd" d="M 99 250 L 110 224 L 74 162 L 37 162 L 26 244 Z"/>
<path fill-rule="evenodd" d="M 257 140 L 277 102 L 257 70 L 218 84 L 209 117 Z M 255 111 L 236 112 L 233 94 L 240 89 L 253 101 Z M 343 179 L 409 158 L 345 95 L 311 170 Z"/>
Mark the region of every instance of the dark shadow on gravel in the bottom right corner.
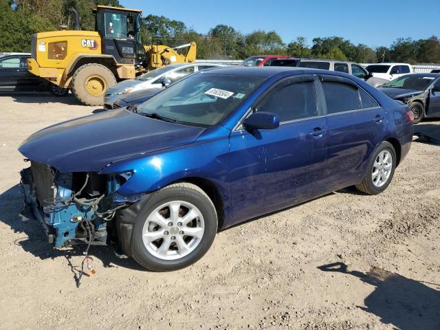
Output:
<path fill-rule="evenodd" d="M 324 272 L 341 272 L 360 278 L 375 290 L 365 298 L 364 311 L 378 316 L 382 323 L 400 330 L 440 329 L 440 292 L 399 274 L 371 267 L 366 274 L 347 270 L 344 263 L 318 267 Z M 434 284 L 434 283 L 430 283 Z"/>

